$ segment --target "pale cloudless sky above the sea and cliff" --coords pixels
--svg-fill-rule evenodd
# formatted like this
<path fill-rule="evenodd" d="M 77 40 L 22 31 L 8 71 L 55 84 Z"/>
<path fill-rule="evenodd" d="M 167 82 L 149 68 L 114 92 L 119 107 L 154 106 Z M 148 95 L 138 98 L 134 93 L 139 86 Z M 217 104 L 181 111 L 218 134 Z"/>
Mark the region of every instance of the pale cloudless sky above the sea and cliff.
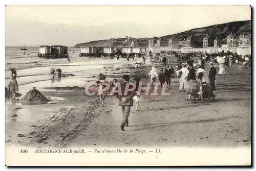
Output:
<path fill-rule="evenodd" d="M 154 37 L 250 20 L 250 6 L 5 7 L 6 46 L 67 45 L 118 37 Z"/>

